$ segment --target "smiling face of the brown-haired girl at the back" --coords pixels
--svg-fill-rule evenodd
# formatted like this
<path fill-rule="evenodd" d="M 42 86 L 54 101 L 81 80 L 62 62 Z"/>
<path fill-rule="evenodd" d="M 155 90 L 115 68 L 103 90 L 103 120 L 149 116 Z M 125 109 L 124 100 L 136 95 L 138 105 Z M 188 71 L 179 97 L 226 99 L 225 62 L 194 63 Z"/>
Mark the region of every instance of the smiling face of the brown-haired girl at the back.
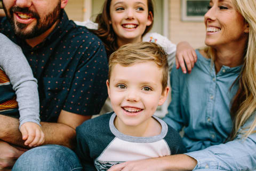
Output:
<path fill-rule="evenodd" d="M 110 3 L 110 18 L 118 44 L 140 42 L 146 27 L 153 21 L 147 0 L 113 0 Z"/>

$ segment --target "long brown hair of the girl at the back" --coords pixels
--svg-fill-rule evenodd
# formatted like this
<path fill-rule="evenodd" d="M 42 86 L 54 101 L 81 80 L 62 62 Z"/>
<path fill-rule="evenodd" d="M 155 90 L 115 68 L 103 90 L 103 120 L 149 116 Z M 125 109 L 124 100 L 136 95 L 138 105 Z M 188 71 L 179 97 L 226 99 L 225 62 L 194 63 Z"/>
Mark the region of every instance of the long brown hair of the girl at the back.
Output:
<path fill-rule="evenodd" d="M 115 52 L 118 49 L 116 34 L 112 28 L 112 25 L 109 23 L 110 18 L 110 3 L 111 0 L 106 0 L 103 4 L 102 13 L 97 15 L 95 22 L 98 23 L 98 30 L 90 30 L 95 33 L 105 45 L 107 55 L 110 56 L 111 53 Z M 153 0 L 147 0 L 148 5 L 148 13 L 152 13 L 152 17 L 154 18 L 154 3 Z M 153 27 L 152 24 L 146 27 L 143 35 L 150 31 Z M 142 36 L 143 36 L 142 35 Z"/>

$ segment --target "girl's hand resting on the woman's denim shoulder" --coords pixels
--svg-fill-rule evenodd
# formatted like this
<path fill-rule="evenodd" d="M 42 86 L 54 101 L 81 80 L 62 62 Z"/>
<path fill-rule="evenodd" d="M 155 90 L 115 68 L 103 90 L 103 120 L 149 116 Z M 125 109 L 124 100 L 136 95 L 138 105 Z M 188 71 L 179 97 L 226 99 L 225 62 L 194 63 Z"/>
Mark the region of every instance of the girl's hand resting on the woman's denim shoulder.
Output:
<path fill-rule="evenodd" d="M 195 49 L 192 48 L 188 42 L 182 41 L 177 45 L 176 50 L 176 68 L 181 70 L 183 73 L 187 73 L 186 66 L 188 69 L 188 73 L 191 73 L 191 70 L 194 67 L 194 64 L 197 61 L 197 55 Z M 186 63 L 186 66 L 185 66 Z"/>

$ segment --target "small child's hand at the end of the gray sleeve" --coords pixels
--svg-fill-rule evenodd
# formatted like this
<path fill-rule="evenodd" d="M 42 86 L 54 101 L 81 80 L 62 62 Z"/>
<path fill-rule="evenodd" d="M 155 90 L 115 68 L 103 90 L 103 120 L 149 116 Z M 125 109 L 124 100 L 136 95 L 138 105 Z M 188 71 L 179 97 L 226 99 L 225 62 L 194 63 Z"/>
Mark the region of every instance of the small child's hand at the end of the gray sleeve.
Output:
<path fill-rule="evenodd" d="M 25 141 L 25 146 L 36 147 L 44 143 L 44 133 L 36 123 L 26 122 L 20 126 L 22 140 Z"/>

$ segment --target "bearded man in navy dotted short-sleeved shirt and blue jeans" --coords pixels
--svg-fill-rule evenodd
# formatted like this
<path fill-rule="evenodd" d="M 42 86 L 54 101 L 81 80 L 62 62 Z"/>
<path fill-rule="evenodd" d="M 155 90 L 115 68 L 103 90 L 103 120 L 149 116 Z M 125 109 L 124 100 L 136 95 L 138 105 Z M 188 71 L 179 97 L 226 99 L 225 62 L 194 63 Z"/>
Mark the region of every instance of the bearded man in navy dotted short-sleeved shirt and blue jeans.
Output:
<path fill-rule="evenodd" d="M 3 0 L 7 19 L 0 19 L 0 32 L 21 47 L 38 81 L 44 144 L 61 146 L 17 147 L 23 145 L 18 119 L 0 115 L 0 170 L 11 168 L 22 153 L 13 170 L 81 169 L 70 150 L 75 128 L 105 102 L 108 67 L 101 41 L 68 20 L 67 3 Z"/>

